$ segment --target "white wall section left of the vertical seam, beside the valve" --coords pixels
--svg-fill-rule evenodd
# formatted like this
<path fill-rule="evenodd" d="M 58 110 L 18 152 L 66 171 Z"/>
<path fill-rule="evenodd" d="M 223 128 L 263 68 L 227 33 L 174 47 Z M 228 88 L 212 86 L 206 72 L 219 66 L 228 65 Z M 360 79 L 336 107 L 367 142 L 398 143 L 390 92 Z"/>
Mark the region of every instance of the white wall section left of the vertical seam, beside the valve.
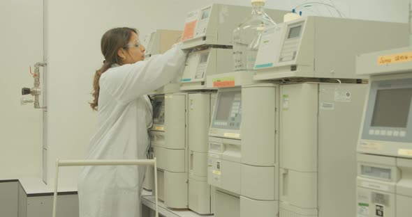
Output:
<path fill-rule="evenodd" d="M 43 61 L 43 1 L 0 1 L 0 29 L 0 179 L 41 177 L 42 111 L 20 99 Z"/>

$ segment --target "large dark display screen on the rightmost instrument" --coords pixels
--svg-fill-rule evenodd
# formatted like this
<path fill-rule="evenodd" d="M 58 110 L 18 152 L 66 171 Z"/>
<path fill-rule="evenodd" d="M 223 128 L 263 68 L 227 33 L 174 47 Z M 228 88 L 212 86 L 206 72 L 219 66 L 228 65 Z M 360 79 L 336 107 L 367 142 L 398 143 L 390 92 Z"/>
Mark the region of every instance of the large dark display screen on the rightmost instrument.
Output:
<path fill-rule="evenodd" d="M 378 90 L 371 126 L 406 128 L 411 99 L 412 88 Z"/>

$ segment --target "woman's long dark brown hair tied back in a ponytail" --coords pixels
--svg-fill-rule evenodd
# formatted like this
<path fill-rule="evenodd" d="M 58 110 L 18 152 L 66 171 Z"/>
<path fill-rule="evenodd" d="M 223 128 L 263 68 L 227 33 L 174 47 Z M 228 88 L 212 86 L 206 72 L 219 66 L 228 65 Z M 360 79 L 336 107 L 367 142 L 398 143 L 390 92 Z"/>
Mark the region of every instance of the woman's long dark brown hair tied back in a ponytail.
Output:
<path fill-rule="evenodd" d="M 91 109 L 94 111 L 98 109 L 98 93 L 100 92 L 98 81 L 101 75 L 110 69 L 113 64 L 117 63 L 122 65 L 122 60 L 119 59 L 117 51 L 128 44 L 132 33 L 138 34 L 138 31 L 128 27 L 115 28 L 105 32 L 101 38 L 101 53 L 105 57 L 105 61 L 103 62 L 103 66 L 96 70 L 96 74 L 94 74 L 93 93 L 91 93 L 94 99 L 93 102 L 90 103 Z"/>

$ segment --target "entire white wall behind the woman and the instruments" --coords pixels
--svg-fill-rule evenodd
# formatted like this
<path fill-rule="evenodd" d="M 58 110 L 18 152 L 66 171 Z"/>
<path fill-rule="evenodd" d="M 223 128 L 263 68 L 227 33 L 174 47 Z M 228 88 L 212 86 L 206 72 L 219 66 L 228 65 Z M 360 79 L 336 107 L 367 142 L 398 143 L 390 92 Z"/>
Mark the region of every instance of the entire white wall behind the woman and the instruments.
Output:
<path fill-rule="evenodd" d="M 267 8 L 290 10 L 305 2 L 308 1 L 267 0 Z M 23 84 L 32 86 L 27 66 L 42 60 L 41 3 L 41 0 L 3 0 L 0 3 L 1 68 L 8 74 L 7 80 L 0 80 L 3 99 L 0 177 L 41 174 L 41 137 L 36 131 L 41 124 L 41 112 L 34 111 L 31 106 L 21 107 L 19 102 Z M 106 30 L 131 26 L 140 30 L 143 39 L 143 35 L 155 29 L 183 29 L 186 13 L 200 6 L 210 3 L 249 6 L 250 1 L 45 0 L 45 3 L 48 5 L 49 63 L 47 180 L 52 184 L 55 159 L 84 159 L 89 138 L 96 129 L 96 115 L 87 102 L 91 101 L 94 70 L 103 61 L 100 39 Z M 336 0 L 332 3 L 346 17 L 408 21 L 408 0 Z M 304 8 L 304 13 L 336 15 L 322 6 Z M 6 160 L 17 165 L 10 166 L 3 162 Z M 59 186 L 75 187 L 77 171 L 78 168 L 63 168 Z"/>

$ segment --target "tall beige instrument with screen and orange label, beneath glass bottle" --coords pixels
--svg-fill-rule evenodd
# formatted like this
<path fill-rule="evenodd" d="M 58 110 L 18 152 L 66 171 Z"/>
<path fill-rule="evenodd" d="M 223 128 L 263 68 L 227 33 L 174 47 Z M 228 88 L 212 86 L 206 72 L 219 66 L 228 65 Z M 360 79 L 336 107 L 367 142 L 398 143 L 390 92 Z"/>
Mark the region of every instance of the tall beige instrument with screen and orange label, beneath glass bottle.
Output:
<path fill-rule="evenodd" d="M 211 86 L 219 88 L 208 155 L 216 217 L 273 216 L 279 208 L 279 86 L 254 83 L 251 75 L 231 72 L 207 77 L 213 81 Z"/>

